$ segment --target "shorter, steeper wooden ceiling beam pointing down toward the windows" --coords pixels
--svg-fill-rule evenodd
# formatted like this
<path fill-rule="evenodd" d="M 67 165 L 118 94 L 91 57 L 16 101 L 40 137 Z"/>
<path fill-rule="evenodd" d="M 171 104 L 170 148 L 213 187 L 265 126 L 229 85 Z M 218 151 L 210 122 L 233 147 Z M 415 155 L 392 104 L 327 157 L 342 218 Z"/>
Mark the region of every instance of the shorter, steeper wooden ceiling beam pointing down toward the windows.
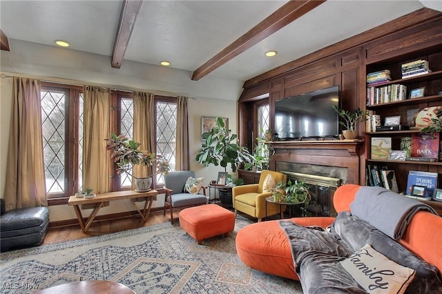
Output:
<path fill-rule="evenodd" d="M 112 67 L 120 68 L 124 59 L 124 53 L 131 39 L 133 27 L 137 20 L 142 5 L 142 0 L 124 0 L 122 11 L 119 15 L 117 35 L 113 43 Z"/>

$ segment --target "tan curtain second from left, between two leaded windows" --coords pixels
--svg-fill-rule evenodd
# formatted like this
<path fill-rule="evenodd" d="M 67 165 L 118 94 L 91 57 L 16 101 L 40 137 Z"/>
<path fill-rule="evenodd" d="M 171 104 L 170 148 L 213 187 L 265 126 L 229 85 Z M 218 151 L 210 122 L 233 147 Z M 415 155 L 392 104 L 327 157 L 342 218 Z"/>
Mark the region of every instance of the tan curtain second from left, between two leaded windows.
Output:
<path fill-rule="evenodd" d="M 110 108 L 108 89 L 84 87 L 83 186 L 94 193 L 111 191 L 111 157 L 105 141 L 110 135 Z"/>

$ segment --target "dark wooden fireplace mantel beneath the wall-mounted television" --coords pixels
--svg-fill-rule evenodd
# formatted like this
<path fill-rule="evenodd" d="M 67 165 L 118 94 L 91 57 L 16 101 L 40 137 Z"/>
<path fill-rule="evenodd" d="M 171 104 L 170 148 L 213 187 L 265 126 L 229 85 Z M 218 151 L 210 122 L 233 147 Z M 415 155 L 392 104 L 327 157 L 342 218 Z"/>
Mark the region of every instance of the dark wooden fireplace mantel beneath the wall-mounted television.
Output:
<path fill-rule="evenodd" d="M 292 162 L 316 166 L 347 168 L 347 183 L 360 184 L 360 150 L 362 140 L 273 141 L 275 155 L 270 164 L 276 170 L 276 162 Z"/>

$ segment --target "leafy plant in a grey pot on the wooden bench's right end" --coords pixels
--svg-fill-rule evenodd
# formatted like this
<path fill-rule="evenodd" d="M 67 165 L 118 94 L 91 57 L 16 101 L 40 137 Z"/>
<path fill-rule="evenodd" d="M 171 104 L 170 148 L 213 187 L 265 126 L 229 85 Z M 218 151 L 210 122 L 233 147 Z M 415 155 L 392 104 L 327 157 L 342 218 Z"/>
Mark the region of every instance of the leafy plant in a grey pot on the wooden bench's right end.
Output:
<path fill-rule="evenodd" d="M 169 162 L 162 155 L 155 155 L 147 150 L 139 150 L 140 143 L 131 140 L 125 135 L 111 134 L 106 139 L 106 150 L 112 150 L 111 158 L 117 163 L 117 175 L 127 173 L 135 179 L 136 190 L 145 192 L 151 189 L 152 176 L 138 178 L 132 175 L 132 167 L 140 164 L 146 168 L 154 166 L 156 173 L 167 174 L 170 170 Z M 155 172 L 155 170 L 154 170 Z"/>

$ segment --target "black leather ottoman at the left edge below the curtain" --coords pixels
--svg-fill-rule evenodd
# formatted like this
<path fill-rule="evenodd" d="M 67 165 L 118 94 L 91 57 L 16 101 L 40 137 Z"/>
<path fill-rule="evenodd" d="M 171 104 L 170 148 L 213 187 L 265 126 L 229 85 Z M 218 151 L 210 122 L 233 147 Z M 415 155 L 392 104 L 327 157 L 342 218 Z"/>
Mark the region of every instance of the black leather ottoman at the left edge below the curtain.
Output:
<path fill-rule="evenodd" d="M 1 213 L 1 251 L 37 246 L 43 243 L 49 225 L 46 206 L 12 209 Z"/>

